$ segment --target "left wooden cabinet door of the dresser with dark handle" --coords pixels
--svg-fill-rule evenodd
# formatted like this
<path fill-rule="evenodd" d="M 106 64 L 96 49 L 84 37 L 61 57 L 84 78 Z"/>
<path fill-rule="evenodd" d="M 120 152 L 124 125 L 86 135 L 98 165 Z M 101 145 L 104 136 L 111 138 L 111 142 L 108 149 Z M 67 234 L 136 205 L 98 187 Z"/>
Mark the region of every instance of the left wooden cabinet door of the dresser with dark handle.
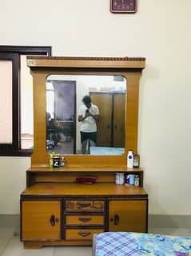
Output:
<path fill-rule="evenodd" d="M 61 201 L 22 201 L 22 241 L 59 240 Z"/>

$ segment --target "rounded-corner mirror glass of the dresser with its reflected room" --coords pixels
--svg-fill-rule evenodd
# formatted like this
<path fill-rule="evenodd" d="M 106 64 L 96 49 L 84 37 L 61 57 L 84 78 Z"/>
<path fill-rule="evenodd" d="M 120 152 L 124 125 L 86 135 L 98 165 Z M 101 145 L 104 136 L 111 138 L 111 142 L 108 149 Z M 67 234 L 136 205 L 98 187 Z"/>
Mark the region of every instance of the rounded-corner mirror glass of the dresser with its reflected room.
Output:
<path fill-rule="evenodd" d="M 121 75 L 49 75 L 46 149 L 57 154 L 125 152 L 125 91 Z"/>

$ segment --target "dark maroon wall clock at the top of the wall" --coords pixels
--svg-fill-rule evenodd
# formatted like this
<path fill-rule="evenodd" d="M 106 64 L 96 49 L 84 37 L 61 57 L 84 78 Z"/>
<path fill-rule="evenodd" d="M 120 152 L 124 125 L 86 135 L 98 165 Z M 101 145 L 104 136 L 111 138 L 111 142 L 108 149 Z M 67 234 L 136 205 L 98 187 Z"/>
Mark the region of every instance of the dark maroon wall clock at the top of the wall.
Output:
<path fill-rule="evenodd" d="M 136 13 L 137 0 L 110 0 L 112 13 Z"/>

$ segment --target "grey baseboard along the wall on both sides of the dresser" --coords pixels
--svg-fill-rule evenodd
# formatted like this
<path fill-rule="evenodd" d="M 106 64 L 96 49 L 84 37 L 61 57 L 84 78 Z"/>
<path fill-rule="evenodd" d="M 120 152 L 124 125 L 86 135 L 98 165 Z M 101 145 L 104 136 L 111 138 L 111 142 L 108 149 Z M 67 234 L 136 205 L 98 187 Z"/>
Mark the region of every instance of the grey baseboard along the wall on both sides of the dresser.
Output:
<path fill-rule="evenodd" d="M 149 228 L 191 228 L 191 215 L 149 214 Z M 19 214 L 0 214 L 0 227 L 19 227 Z"/>

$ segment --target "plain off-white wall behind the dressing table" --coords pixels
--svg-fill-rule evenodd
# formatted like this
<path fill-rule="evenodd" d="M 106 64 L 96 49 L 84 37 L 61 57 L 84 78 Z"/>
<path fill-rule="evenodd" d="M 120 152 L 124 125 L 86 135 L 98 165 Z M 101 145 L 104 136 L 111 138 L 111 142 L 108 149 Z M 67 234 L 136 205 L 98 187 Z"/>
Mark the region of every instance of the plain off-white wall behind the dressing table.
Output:
<path fill-rule="evenodd" d="M 190 10 L 190 0 L 139 0 L 137 14 L 111 14 L 109 0 L 1 1 L 0 44 L 51 45 L 53 55 L 146 58 L 138 145 L 149 213 L 191 214 Z M 30 158 L 0 163 L 0 213 L 19 213 Z"/>

